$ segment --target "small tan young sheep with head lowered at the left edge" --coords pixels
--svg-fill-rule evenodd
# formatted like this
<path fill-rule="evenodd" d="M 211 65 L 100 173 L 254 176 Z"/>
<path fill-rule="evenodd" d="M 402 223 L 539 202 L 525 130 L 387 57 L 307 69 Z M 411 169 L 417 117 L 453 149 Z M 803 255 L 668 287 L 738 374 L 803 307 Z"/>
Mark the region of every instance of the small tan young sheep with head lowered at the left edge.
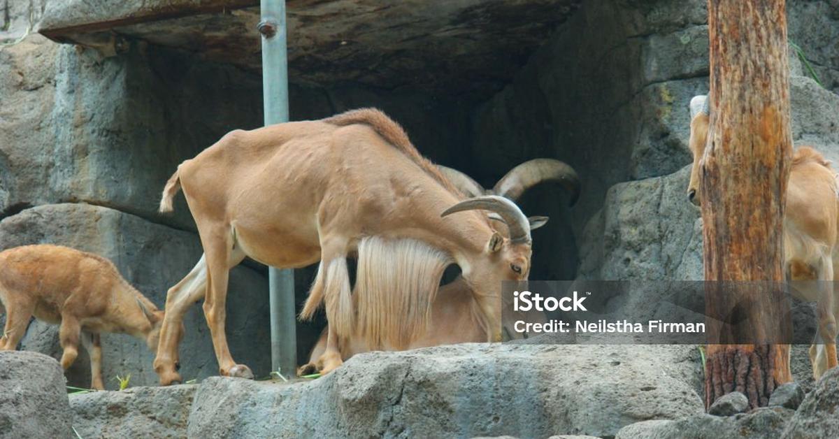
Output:
<path fill-rule="evenodd" d="M 61 367 L 69 368 L 76 360 L 81 337 L 91 356 L 93 389 L 104 389 L 99 334 L 124 332 L 143 339 L 156 352 L 164 316 L 122 279 L 111 261 L 55 245 L 0 252 L 0 304 L 6 310 L 0 350 L 17 348 L 31 316 L 60 324 Z"/>

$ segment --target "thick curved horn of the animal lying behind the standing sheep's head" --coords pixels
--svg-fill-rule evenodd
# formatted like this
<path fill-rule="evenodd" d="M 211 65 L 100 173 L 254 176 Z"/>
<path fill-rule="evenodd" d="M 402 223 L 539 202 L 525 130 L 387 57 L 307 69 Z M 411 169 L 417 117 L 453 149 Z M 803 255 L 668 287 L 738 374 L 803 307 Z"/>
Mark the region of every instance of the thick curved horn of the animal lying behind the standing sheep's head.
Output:
<path fill-rule="evenodd" d="M 571 193 L 571 206 L 580 197 L 580 177 L 576 170 L 560 160 L 532 159 L 516 166 L 504 175 L 492 191 L 516 201 L 533 186 L 545 181 L 555 181 Z"/>

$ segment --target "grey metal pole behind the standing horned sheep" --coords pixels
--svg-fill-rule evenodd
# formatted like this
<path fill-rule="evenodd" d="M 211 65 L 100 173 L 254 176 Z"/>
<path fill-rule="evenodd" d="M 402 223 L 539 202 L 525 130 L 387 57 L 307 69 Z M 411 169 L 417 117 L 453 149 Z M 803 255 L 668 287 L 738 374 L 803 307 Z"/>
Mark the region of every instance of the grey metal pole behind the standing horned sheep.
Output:
<path fill-rule="evenodd" d="M 265 125 L 289 121 L 289 63 L 285 44 L 285 0 L 261 0 L 263 111 Z M 286 376 L 297 368 L 294 270 L 268 268 L 271 368 Z"/>

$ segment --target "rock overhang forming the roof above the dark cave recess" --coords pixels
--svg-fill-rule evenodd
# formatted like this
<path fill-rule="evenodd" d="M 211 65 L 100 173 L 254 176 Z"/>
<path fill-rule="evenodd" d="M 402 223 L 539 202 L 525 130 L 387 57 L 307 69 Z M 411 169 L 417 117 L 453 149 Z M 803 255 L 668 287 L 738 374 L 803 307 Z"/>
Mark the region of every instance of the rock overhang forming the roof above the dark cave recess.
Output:
<path fill-rule="evenodd" d="M 289 0 L 289 79 L 496 91 L 581 0 Z M 47 0 L 38 30 L 106 55 L 130 40 L 258 72 L 254 0 Z"/>

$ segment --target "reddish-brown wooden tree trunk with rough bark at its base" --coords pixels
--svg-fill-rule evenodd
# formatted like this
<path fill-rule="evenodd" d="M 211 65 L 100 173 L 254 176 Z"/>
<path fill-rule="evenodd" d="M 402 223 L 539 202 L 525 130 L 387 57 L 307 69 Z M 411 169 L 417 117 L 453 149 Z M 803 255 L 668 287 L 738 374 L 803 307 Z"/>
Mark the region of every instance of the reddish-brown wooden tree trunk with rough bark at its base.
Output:
<path fill-rule="evenodd" d="M 706 405 L 767 405 L 789 382 L 783 217 L 792 155 L 784 0 L 708 0 L 711 119 L 703 158 Z M 761 281 L 734 285 L 730 281 Z M 722 282 L 726 282 L 723 285 Z M 737 343 L 737 344 L 736 344 Z M 751 343 L 751 344 L 746 344 Z"/>

